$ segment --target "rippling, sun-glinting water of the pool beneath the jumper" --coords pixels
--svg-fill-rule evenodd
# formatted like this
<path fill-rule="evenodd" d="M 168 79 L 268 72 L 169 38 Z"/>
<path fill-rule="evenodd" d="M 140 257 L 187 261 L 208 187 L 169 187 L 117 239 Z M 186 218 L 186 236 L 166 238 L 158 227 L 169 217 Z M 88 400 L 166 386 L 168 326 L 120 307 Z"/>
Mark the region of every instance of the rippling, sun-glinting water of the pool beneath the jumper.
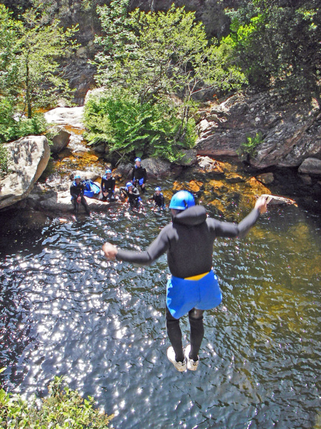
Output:
<path fill-rule="evenodd" d="M 57 218 L 39 236 L 13 234 L 1 257 L 4 384 L 41 395 L 64 374 L 116 414 L 115 428 L 319 427 L 318 224 L 285 206 L 246 239 L 216 241 L 223 302 L 206 311 L 199 370 L 181 374 L 166 358 L 165 256 L 137 267 L 101 253 L 106 240 L 143 249 L 169 219 L 146 202 L 142 213 L 114 204 Z M 185 343 L 188 328 L 185 317 Z"/>

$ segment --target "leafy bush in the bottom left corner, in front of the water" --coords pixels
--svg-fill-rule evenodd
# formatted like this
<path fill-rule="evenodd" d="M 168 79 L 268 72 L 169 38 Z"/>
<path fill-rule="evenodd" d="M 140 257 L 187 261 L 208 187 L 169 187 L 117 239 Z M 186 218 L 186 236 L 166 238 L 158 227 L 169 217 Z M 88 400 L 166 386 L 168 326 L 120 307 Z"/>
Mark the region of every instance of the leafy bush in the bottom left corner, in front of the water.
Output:
<path fill-rule="evenodd" d="M 77 391 L 63 386 L 62 377 L 55 377 L 49 385 L 49 396 L 37 405 L 0 389 L 0 427 L 17 428 L 74 428 L 108 429 L 113 416 L 94 409 L 94 399 L 84 400 Z"/>

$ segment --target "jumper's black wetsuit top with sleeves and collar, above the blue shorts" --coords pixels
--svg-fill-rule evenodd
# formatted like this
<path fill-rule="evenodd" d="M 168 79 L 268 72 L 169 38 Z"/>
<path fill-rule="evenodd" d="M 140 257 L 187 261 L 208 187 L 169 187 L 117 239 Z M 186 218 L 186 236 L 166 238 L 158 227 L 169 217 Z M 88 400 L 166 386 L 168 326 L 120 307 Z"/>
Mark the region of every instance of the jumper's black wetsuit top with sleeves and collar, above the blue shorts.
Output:
<path fill-rule="evenodd" d="M 244 235 L 255 224 L 259 210 L 253 209 L 238 225 L 207 218 L 203 206 L 193 206 L 178 213 L 144 252 L 118 248 L 117 260 L 150 265 L 167 252 L 169 271 L 185 279 L 208 272 L 212 267 L 213 243 L 216 237 Z"/>

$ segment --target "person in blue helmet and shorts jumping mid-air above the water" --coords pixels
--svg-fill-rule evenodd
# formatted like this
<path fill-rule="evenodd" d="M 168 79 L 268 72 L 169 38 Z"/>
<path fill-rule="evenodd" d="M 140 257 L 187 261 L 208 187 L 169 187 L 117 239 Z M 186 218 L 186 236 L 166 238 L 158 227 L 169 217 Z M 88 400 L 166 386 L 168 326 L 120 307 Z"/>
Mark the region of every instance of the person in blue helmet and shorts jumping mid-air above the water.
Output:
<path fill-rule="evenodd" d="M 259 197 L 254 209 L 238 224 L 208 218 L 206 209 L 196 206 L 193 195 L 185 190 L 173 196 L 169 207 L 172 223 L 159 232 L 146 251 L 125 251 L 110 243 L 105 243 L 102 250 L 109 260 L 141 265 L 150 265 L 167 253 L 171 272 L 166 288 L 166 329 L 171 342 L 167 357 L 176 370 L 195 371 L 204 337 L 204 311 L 222 301 L 212 269 L 214 241 L 217 237 L 244 237 L 259 214 L 266 211 L 266 198 Z M 183 349 L 180 318 L 185 314 L 190 321 L 190 344 Z"/>

